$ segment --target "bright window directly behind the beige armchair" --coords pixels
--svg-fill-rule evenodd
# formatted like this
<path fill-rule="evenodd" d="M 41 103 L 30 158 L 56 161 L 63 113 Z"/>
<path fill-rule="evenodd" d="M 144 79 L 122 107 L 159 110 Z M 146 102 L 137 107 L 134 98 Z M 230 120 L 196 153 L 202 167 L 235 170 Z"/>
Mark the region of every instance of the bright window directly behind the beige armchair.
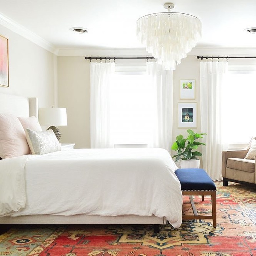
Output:
<path fill-rule="evenodd" d="M 230 66 L 222 91 L 224 143 L 247 143 L 256 135 L 255 66 Z"/>

